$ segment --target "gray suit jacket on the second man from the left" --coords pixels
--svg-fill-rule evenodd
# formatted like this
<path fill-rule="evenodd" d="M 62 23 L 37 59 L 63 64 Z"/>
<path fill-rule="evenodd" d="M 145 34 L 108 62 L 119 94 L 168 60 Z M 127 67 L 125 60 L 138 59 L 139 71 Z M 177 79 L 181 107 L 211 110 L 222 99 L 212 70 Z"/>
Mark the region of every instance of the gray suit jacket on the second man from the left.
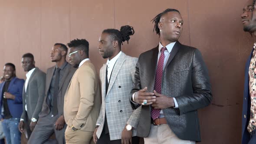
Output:
<path fill-rule="evenodd" d="M 36 67 L 30 76 L 26 92 L 24 84 L 22 94 L 23 113 L 21 115 L 21 118 L 24 119 L 24 121 L 30 121 L 32 117 L 36 119 L 39 118 L 39 113 L 41 112 L 43 105 L 45 80 L 46 74 Z M 25 110 L 25 105 L 27 111 Z M 27 119 L 27 117 L 29 119 Z"/>

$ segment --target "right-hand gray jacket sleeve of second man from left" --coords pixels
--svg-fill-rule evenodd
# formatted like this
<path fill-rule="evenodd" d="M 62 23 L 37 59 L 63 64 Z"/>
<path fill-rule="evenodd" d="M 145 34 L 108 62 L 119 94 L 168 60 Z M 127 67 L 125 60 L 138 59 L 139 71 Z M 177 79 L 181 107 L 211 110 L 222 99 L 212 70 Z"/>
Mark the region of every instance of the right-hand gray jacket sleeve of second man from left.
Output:
<path fill-rule="evenodd" d="M 41 72 L 40 75 L 36 78 L 37 88 L 38 88 L 38 100 L 36 104 L 35 111 L 33 112 L 32 117 L 38 120 L 39 113 L 42 111 L 44 94 L 45 94 L 45 82 L 46 82 L 46 74 Z"/>

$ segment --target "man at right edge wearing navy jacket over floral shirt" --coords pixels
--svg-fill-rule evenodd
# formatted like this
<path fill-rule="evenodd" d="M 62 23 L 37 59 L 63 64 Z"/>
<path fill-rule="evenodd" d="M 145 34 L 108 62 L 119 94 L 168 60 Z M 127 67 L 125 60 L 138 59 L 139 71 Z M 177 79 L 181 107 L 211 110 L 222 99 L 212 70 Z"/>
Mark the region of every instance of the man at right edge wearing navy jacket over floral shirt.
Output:
<path fill-rule="evenodd" d="M 256 36 L 255 0 L 249 0 L 241 15 L 243 30 Z M 242 111 L 242 144 L 256 144 L 256 43 L 245 66 Z"/>

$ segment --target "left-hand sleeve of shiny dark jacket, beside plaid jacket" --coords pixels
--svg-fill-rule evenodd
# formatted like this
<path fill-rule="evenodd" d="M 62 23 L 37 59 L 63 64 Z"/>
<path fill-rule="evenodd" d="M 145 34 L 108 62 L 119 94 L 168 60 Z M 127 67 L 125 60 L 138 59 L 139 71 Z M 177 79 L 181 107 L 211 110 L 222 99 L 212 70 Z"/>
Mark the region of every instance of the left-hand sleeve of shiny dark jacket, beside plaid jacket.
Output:
<path fill-rule="evenodd" d="M 135 92 L 138 92 L 141 89 L 141 78 L 140 78 L 140 67 L 139 67 L 140 58 L 141 58 L 141 55 L 139 56 L 138 62 L 137 62 L 136 67 L 135 67 L 134 86 L 131 89 L 131 94 L 130 94 L 130 102 L 131 102 L 131 107 L 133 109 L 136 109 L 140 106 L 140 104 L 137 104 L 137 103 L 132 101 L 132 95 Z"/>

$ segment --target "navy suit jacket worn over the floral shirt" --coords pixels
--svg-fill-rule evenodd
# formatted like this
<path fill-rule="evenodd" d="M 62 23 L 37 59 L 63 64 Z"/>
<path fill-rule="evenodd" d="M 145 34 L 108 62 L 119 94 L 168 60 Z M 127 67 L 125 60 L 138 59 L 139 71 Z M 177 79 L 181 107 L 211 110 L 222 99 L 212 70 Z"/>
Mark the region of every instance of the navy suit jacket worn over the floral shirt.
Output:
<path fill-rule="evenodd" d="M 249 66 L 252 59 L 253 50 L 245 65 L 244 90 L 243 90 L 243 111 L 242 111 L 242 144 L 248 144 L 250 134 L 247 130 L 251 112 L 251 98 L 249 94 Z"/>

